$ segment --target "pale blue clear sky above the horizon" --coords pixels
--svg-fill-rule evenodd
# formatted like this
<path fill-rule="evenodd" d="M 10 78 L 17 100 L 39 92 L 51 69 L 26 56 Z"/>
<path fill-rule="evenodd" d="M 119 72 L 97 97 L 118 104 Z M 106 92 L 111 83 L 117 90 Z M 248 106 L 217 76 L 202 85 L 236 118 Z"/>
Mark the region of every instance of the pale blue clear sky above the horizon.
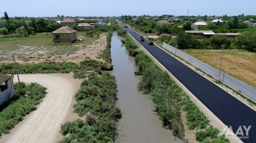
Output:
<path fill-rule="evenodd" d="M 3 0 L 1 0 L 3 1 Z M 0 12 L 10 17 L 121 15 L 256 15 L 255 0 L 7 0 Z M 1 16 L 0 14 L 0 16 Z"/>

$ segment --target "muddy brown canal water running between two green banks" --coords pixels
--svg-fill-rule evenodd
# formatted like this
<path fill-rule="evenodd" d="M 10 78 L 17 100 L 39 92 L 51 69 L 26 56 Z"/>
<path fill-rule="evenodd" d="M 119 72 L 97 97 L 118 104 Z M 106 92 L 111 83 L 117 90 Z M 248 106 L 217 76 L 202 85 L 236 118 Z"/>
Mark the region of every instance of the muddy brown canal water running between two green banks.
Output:
<path fill-rule="evenodd" d="M 118 123 L 117 142 L 182 142 L 165 129 L 154 111 L 153 103 L 147 95 L 138 92 L 139 76 L 134 75 L 135 61 L 127 54 L 120 36 L 114 32 L 112 37 L 113 74 L 117 81 L 117 106 L 122 110 Z"/>

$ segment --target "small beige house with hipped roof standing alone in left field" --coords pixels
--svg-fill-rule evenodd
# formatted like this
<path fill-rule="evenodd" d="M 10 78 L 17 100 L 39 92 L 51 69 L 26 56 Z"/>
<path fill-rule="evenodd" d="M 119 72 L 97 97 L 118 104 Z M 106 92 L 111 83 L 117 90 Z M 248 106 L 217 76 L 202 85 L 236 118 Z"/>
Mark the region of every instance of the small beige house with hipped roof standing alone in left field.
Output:
<path fill-rule="evenodd" d="M 76 30 L 69 28 L 67 26 L 61 27 L 56 31 L 52 32 L 53 42 L 73 42 L 77 40 Z"/>

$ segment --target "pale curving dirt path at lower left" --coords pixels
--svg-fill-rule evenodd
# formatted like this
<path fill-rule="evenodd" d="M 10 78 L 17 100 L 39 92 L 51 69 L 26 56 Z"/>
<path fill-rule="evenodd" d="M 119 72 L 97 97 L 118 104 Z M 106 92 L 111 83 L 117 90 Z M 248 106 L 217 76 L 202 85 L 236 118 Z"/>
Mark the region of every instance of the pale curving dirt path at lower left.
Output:
<path fill-rule="evenodd" d="M 17 79 L 15 78 L 15 81 Z M 60 136 L 60 125 L 67 120 L 73 94 L 80 86 L 68 74 L 20 75 L 20 81 L 38 83 L 47 88 L 47 95 L 38 106 L 0 142 L 54 142 Z"/>

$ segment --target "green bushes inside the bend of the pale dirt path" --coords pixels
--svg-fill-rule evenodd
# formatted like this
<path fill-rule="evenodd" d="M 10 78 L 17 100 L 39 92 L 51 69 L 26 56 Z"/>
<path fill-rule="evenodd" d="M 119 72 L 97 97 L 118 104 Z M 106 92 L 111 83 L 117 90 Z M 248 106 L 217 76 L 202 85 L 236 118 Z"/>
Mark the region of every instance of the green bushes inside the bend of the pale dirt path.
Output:
<path fill-rule="evenodd" d="M 14 88 L 16 96 L 0 109 L 0 136 L 9 133 L 10 129 L 22 121 L 24 116 L 36 110 L 36 105 L 46 95 L 46 88 L 36 83 L 29 85 L 20 83 L 20 87 L 16 83 Z"/>

